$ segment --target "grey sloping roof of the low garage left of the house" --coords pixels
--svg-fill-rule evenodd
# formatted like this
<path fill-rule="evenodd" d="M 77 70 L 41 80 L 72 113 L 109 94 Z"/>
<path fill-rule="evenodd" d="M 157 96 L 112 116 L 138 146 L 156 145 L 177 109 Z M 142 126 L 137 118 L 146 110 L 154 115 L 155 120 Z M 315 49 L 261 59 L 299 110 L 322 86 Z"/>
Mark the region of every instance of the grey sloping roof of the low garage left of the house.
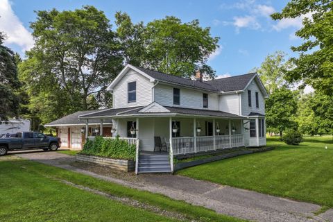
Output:
<path fill-rule="evenodd" d="M 94 112 L 99 112 L 103 110 L 87 110 L 87 111 L 78 111 L 74 112 L 72 114 L 69 114 L 65 117 L 62 117 L 60 119 L 57 119 L 56 121 L 52 121 L 51 123 L 47 123 L 44 126 L 51 127 L 51 126 L 77 126 L 77 125 L 85 125 L 84 120 L 78 119 L 80 115 L 83 114 L 90 114 Z M 99 123 L 99 119 L 94 119 L 89 121 L 89 123 Z"/>

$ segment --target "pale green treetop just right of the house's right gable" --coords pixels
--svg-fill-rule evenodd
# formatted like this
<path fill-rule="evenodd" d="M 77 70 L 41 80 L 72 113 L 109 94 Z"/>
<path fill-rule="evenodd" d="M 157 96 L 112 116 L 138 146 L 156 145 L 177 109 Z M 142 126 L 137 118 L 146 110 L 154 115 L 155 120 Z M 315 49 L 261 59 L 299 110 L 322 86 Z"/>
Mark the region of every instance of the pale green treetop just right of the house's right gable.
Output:
<path fill-rule="evenodd" d="M 290 87 L 290 84 L 287 83 L 285 73 L 290 70 L 293 65 L 291 62 L 286 61 L 286 56 L 287 54 L 283 51 L 276 51 L 266 56 L 259 68 L 253 69 L 257 71 L 270 94 L 280 87 Z"/>

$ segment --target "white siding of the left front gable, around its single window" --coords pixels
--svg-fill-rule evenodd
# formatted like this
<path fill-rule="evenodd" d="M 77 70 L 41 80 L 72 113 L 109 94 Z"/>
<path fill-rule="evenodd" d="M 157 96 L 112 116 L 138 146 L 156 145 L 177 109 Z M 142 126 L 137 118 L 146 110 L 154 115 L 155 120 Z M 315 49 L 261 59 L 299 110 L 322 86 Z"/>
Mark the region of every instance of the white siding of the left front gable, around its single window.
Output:
<path fill-rule="evenodd" d="M 137 100 L 128 103 L 128 83 L 137 83 Z M 126 108 L 148 105 L 152 102 L 153 83 L 148 78 L 138 74 L 134 70 L 128 71 L 114 87 L 114 108 Z"/>

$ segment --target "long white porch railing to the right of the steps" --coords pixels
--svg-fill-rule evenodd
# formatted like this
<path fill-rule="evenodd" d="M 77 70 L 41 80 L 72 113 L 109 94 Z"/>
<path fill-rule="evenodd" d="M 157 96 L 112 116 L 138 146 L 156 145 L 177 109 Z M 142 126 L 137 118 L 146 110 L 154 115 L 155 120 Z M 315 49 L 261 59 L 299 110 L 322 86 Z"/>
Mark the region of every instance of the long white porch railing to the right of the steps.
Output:
<path fill-rule="evenodd" d="M 215 147 L 214 147 L 215 138 Z M 194 146 L 196 143 L 196 146 Z M 243 135 L 219 135 L 209 137 L 176 137 L 172 138 L 173 155 L 214 151 L 223 148 L 244 146 Z M 196 147 L 196 150 L 194 149 Z"/>

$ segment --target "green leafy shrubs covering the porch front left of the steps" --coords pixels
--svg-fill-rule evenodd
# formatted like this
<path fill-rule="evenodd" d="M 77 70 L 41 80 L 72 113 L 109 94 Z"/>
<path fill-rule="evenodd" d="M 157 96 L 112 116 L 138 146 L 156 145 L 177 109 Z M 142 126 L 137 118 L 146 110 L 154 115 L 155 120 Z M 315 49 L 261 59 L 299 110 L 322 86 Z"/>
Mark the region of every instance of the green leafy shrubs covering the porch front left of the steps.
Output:
<path fill-rule="evenodd" d="M 94 140 L 87 140 L 80 153 L 113 159 L 135 160 L 135 145 L 130 145 L 119 137 L 116 139 L 95 137 Z"/>

